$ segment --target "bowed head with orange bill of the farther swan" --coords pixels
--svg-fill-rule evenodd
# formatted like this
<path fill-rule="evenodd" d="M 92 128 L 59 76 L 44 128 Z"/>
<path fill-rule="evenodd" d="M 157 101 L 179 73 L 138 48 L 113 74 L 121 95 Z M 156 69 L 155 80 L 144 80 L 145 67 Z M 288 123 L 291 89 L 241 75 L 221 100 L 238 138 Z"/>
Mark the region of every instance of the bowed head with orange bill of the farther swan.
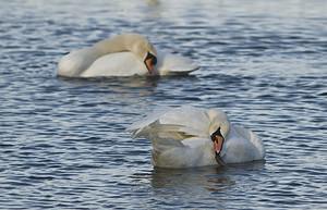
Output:
<path fill-rule="evenodd" d="M 142 60 L 149 74 L 155 74 L 157 64 L 157 50 L 146 38 L 138 39 L 132 51 Z"/>

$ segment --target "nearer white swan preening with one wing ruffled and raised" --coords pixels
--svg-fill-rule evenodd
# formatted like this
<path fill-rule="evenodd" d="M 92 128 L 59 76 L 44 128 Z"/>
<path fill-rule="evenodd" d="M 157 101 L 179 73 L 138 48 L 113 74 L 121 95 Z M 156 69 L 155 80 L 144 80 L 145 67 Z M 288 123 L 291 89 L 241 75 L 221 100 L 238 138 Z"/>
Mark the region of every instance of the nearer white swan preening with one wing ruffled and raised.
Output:
<path fill-rule="evenodd" d="M 184 106 L 157 112 L 132 124 L 133 137 L 152 140 L 153 164 L 159 168 L 223 165 L 261 160 L 263 141 L 229 122 L 220 110 Z"/>

